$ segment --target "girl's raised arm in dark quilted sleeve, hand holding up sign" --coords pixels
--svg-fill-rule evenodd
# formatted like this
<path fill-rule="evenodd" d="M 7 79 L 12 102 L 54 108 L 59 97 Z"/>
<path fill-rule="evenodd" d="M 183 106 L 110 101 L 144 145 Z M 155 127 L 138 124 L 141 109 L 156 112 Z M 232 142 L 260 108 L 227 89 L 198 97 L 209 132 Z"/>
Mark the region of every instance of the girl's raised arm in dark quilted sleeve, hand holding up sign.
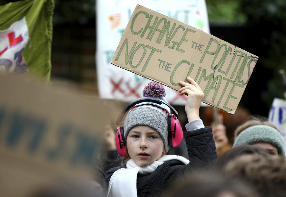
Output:
<path fill-rule="evenodd" d="M 190 77 L 187 77 L 187 80 L 189 83 L 180 81 L 180 85 L 184 87 L 179 90 L 179 93 L 188 95 L 185 110 L 189 123 L 186 124 L 187 131 L 184 135 L 190 160 L 189 166 L 202 168 L 217 158 L 215 141 L 212 135 L 212 128 L 204 127 L 199 116 L 200 104 L 204 93 L 195 80 Z"/>

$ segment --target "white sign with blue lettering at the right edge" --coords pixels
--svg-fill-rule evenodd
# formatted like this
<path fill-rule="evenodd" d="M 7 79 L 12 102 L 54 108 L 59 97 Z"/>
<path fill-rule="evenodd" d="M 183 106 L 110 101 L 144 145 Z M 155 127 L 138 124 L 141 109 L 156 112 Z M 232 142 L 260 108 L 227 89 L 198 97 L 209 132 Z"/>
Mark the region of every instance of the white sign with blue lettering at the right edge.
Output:
<path fill-rule="evenodd" d="M 275 98 L 268 115 L 268 122 L 279 129 L 286 142 L 286 100 Z"/>

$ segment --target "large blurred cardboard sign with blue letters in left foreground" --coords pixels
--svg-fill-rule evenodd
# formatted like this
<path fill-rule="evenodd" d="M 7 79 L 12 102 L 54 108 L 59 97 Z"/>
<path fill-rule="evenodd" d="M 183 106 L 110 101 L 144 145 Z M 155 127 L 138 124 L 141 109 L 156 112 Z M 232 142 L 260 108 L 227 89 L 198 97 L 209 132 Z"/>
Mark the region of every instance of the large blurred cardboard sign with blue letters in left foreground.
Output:
<path fill-rule="evenodd" d="M 17 196 L 61 176 L 92 176 L 108 103 L 22 77 L 1 76 L 0 92 L 1 194 L 14 188 Z"/>

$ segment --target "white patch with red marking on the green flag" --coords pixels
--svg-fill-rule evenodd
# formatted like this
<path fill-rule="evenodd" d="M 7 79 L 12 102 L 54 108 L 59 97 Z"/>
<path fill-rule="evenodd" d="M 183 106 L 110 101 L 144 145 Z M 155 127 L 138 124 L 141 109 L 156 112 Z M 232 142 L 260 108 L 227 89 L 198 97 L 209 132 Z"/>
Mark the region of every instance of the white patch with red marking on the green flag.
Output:
<path fill-rule="evenodd" d="M 29 40 L 25 17 L 0 31 L 0 73 L 23 74 L 28 71 L 22 52 Z"/>

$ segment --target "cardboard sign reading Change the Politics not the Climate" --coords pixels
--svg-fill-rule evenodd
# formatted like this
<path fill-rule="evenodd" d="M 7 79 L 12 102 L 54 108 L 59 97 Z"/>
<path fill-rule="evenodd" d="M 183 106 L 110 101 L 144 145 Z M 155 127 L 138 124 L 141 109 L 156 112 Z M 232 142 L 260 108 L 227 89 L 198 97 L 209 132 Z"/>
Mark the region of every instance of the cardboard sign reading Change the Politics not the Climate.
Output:
<path fill-rule="evenodd" d="M 258 57 L 137 4 L 111 63 L 179 90 L 193 78 L 203 102 L 234 114 Z"/>

